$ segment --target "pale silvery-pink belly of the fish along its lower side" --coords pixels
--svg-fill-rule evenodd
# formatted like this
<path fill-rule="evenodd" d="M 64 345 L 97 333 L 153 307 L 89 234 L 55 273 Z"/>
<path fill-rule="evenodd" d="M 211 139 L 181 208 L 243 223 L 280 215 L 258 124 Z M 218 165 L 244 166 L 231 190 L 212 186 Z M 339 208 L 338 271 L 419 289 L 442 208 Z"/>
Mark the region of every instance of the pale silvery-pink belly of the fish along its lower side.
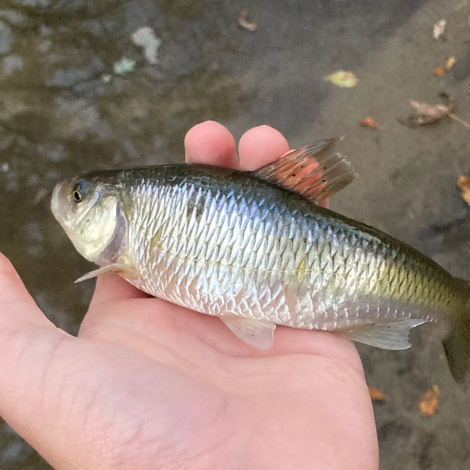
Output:
<path fill-rule="evenodd" d="M 345 292 L 333 294 L 322 289 L 321 282 L 316 286 L 293 285 L 276 273 L 207 266 L 204 262 L 165 260 L 140 281 L 130 282 L 154 297 L 196 312 L 220 317 L 235 314 L 302 329 L 349 330 L 384 321 L 429 321 L 439 316 L 421 305 Z"/>

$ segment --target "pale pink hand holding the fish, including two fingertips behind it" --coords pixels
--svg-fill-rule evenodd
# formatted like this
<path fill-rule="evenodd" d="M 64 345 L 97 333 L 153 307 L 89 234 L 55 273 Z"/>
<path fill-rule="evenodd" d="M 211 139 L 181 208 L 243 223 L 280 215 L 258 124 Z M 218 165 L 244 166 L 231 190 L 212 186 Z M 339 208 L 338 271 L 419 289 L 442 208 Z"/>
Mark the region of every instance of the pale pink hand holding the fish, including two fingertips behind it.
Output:
<path fill-rule="evenodd" d="M 237 157 L 215 122 L 193 127 L 185 147 L 188 163 L 250 170 L 289 149 L 260 126 Z M 0 415 L 57 470 L 378 469 L 351 342 L 278 327 L 273 348 L 257 350 L 218 318 L 149 298 L 117 274 L 98 278 L 72 337 L 0 255 L 0 371 Z"/>

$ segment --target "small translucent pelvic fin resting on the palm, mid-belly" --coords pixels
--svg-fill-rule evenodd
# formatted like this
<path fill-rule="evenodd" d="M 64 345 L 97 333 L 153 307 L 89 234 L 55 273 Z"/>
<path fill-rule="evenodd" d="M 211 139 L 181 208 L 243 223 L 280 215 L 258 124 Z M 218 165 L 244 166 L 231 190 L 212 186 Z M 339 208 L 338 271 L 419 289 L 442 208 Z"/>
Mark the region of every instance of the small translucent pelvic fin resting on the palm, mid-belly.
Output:
<path fill-rule="evenodd" d="M 258 349 L 269 349 L 273 345 L 276 325 L 270 321 L 254 320 L 252 318 L 230 315 L 221 320 L 242 341 Z"/>

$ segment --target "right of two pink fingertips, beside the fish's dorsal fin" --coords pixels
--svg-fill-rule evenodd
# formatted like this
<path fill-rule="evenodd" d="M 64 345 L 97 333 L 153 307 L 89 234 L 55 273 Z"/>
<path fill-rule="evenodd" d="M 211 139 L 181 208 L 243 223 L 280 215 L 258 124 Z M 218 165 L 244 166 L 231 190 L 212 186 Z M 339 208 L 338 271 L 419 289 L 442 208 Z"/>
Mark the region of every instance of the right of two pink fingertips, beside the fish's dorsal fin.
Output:
<path fill-rule="evenodd" d="M 238 144 L 240 166 L 243 170 L 256 170 L 274 162 L 289 151 L 289 144 L 279 131 L 260 125 L 246 131 Z"/>

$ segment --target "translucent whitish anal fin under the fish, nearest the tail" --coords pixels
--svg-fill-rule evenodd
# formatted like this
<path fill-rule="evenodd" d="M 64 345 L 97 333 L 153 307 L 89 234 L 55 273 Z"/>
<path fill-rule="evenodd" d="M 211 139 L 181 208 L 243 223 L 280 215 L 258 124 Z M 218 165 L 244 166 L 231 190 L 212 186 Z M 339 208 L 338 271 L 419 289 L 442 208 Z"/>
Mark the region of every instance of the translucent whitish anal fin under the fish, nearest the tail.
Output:
<path fill-rule="evenodd" d="M 343 336 L 358 343 L 381 349 L 407 349 L 411 346 L 408 343 L 410 329 L 426 323 L 426 321 L 410 318 L 395 323 L 382 323 L 367 328 L 353 329 L 343 333 Z"/>

